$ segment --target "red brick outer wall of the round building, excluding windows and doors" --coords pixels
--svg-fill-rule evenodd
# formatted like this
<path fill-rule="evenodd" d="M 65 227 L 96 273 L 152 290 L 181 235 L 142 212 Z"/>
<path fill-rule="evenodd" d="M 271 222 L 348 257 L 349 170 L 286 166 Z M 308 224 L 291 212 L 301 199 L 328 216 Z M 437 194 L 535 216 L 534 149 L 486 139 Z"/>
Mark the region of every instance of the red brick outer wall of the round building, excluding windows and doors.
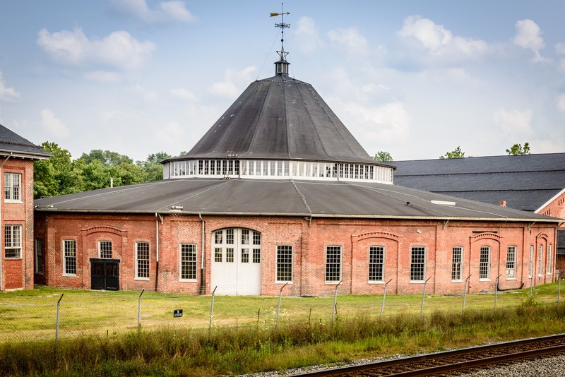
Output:
<path fill-rule="evenodd" d="M 202 220 L 194 215 L 102 215 L 85 213 L 37 212 L 35 237 L 44 237 L 44 282 L 58 287 L 90 289 L 90 258 L 98 258 L 97 242 L 110 240 L 115 246 L 112 258 L 119 259 L 120 289 L 153 291 L 157 277 L 157 234 L 159 265 L 157 290 L 198 294 L 201 285 L 206 293 L 213 287 L 213 232 L 237 227 L 261 233 L 261 294 L 275 295 L 284 283 L 275 282 L 277 246 L 293 249 L 292 283 L 284 293 L 292 296 L 333 294 L 335 283 L 326 283 L 326 246 L 340 246 L 342 294 L 380 294 L 384 282 L 391 280 L 387 292 L 420 293 L 423 282 L 410 282 L 410 249 L 422 246 L 426 252 L 425 278 L 427 292 L 435 294 L 461 293 L 469 277 L 470 292 L 492 292 L 500 275 L 500 289 L 529 287 L 529 251 L 534 247 L 535 285 L 551 282 L 555 266 L 555 251 L 547 271 L 547 249 L 555 250 L 557 224 L 525 224 L 511 222 L 463 222 L 432 220 L 375 220 L 304 217 L 229 217 L 203 216 L 205 241 L 202 245 Z M 62 240 L 77 242 L 77 274 L 64 276 Z M 150 244 L 150 278 L 136 280 L 135 243 Z M 197 280 L 180 280 L 179 245 L 197 247 Z M 384 246 L 384 281 L 369 282 L 369 246 Z M 452 281 L 452 252 L 463 248 L 463 270 L 459 281 Z M 480 249 L 488 246 L 488 276 L 481 279 Z M 506 256 L 509 246 L 516 246 L 516 273 L 506 276 Z M 542 273 L 537 274 L 537 253 L 542 246 Z M 204 248 L 204 249 L 202 249 Z M 201 275 L 201 253 L 204 269 Z"/>

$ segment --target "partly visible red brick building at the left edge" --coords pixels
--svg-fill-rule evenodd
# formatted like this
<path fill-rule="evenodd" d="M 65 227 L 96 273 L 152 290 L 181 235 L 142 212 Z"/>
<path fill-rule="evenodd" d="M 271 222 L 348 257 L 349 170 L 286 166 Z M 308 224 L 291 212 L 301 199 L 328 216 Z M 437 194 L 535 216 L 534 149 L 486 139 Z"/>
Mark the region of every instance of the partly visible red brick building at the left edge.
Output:
<path fill-rule="evenodd" d="M 49 153 L 0 125 L 1 243 L 0 290 L 32 289 L 34 259 L 42 258 L 33 241 L 33 162 Z M 39 264 L 38 264 L 39 265 Z"/>

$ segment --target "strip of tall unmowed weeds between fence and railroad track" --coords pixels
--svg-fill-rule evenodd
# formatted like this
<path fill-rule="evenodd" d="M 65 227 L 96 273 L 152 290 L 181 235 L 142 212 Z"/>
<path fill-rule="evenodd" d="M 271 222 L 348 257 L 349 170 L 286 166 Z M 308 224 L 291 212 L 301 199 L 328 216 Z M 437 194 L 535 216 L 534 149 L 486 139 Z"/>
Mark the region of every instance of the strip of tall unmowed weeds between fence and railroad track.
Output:
<path fill-rule="evenodd" d="M 528 313 L 528 316 L 525 316 Z M 261 326 L 131 331 L 59 342 L 0 345 L 0 375 L 201 376 L 253 373 L 357 357 L 434 351 L 492 340 L 564 330 L 565 306 L 531 305 L 501 311 L 434 311 L 420 318 L 359 315 L 323 323 L 285 322 Z"/>

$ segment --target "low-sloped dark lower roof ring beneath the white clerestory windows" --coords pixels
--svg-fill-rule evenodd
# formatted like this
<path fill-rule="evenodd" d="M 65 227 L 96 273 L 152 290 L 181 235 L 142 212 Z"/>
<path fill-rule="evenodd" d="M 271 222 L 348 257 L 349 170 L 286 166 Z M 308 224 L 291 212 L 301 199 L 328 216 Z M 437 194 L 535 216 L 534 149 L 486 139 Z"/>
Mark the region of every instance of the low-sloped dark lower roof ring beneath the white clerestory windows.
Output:
<path fill-rule="evenodd" d="M 549 221 L 533 213 L 365 182 L 166 179 L 35 201 L 37 211 Z M 182 206 L 173 210 L 172 206 Z"/>

